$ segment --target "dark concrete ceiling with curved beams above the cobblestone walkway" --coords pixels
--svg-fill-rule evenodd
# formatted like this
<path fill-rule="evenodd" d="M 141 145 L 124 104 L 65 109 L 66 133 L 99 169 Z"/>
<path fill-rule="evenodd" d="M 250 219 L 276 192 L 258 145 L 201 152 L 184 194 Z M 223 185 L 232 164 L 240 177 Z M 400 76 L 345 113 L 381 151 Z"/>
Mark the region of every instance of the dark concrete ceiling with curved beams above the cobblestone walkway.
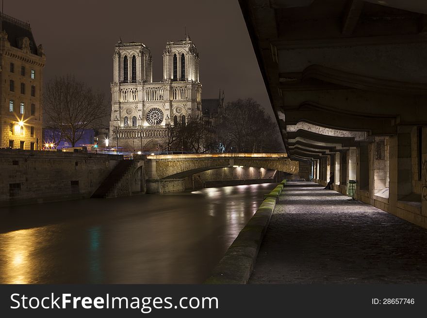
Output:
<path fill-rule="evenodd" d="M 427 121 L 427 4 L 239 0 L 288 155 Z"/>

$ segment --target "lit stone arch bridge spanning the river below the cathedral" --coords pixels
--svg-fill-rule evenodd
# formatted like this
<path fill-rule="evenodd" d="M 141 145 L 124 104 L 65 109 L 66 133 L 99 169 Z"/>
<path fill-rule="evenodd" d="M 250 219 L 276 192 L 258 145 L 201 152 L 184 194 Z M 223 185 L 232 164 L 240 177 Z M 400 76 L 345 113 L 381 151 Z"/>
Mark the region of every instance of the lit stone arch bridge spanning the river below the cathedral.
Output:
<path fill-rule="evenodd" d="M 184 178 L 222 167 L 259 167 L 298 173 L 298 162 L 285 153 L 195 153 L 148 155 L 145 161 L 147 193 L 183 190 Z"/>

